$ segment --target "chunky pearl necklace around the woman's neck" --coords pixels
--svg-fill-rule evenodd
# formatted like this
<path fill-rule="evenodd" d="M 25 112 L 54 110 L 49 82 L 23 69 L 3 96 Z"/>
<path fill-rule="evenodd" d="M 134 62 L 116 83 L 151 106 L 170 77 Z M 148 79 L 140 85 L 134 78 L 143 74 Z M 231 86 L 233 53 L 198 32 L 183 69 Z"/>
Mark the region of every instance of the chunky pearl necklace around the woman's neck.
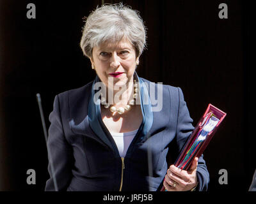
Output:
<path fill-rule="evenodd" d="M 131 99 L 131 101 L 129 101 L 129 105 L 125 105 L 124 107 L 119 107 L 116 108 L 115 106 L 111 106 L 106 103 L 106 98 L 101 97 L 100 99 L 100 103 L 104 106 L 104 108 L 109 108 L 110 107 L 110 111 L 115 113 L 118 112 L 120 115 L 122 115 L 125 111 L 128 112 L 129 110 L 131 110 L 131 106 L 135 105 L 136 99 L 139 98 L 139 88 L 138 88 L 138 83 L 136 83 L 136 80 L 134 80 L 133 82 L 133 87 L 134 87 L 134 92 L 133 92 L 133 99 Z"/>

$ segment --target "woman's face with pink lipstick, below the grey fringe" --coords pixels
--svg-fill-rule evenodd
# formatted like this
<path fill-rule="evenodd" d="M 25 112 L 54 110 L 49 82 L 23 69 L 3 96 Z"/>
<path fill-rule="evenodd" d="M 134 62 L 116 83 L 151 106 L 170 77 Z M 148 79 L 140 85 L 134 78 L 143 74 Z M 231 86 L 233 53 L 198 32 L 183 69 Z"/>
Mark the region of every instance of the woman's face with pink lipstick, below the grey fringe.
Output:
<path fill-rule="evenodd" d="M 136 50 L 127 40 L 121 40 L 118 43 L 106 42 L 99 47 L 93 47 L 90 60 L 106 87 L 108 87 L 108 81 L 113 80 L 113 88 L 132 82 L 138 64 Z"/>

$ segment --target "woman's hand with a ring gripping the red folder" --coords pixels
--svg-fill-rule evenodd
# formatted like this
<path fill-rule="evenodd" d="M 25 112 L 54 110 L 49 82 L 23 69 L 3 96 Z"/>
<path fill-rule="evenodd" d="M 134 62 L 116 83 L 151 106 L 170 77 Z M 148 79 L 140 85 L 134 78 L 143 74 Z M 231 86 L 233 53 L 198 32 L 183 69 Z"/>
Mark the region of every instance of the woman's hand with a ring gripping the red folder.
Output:
<path fill-rule="evenodd" d="M 172 165 L 164 177 L 164 187 L 167 191 L 190 191 L 196 186 L 196 169 L 198 157 L 195 157 L 188 171 Z"/>

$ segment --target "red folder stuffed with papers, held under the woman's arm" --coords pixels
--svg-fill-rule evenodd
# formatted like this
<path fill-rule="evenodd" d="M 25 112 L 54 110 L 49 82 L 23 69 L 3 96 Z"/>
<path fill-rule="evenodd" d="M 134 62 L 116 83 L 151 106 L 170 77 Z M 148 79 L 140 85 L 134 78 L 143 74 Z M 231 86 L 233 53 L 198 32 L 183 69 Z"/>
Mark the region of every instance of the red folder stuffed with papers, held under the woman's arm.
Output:
<path fill-rule="evenodd" d="M 191 156 L 189 157 L 189 160 L 188 160 L 188 163 L 186 164 L 186 166 L 183 165 L 182 167 L 179 167 L 180 169 L 188 170 L 189 167 L 191 166 L 193 160 L 195 159 L 195 157 L 200 157 L 202 155 L 205 148 L 207 147 L 207 145 L 211 141 L 212 137 L 214 136 L 214 134 L 216 133 L 216 131 L 220 127 L 221 122 L 223 121 L 223 119 L 227 115 L 227 113 L 225 113 L 225 112 L 221 111 L 220 109 L 216 108 L 215 106 L 209 104 L 205 113 L 204 113 L 204 115 L 201 117 L 198 124 L 196 124 L 196 127 L 193 130 L 192 134 L 189 136 L 187 142 L 182 147 L 182 151 L 180 152 L 179 157 L 177 158 L 177 160 L 174 163 L 175 166 L 178 167 L 178 166 L 182 165 L 182 161 L 184 160 L 184 157 L 186 157 L 186 154 L 188 154 L 189 149 L 191 149 L 191 147 L 194 144 L 196 138 L 201 133 L 202 129 L 205 126 L 205 120 L 208 119 L 210 114 L 214 115 L 214 117 L 219 120 L 218 124 L 216 124 L 216 126 L 214 127 L 214 129 L 212 129 L 212 131 L 207 133 L 207 135 L 205 136 L 204 141 L 202 141 L 202 143 L 200 143 L 200 146 L 198 146 L 198 149 L 196 149 L 195 152 L 191 153 Z M 161 189 L 161 191 L 163 191 L 163 190 L 164 190 L 164 187 Z"/>

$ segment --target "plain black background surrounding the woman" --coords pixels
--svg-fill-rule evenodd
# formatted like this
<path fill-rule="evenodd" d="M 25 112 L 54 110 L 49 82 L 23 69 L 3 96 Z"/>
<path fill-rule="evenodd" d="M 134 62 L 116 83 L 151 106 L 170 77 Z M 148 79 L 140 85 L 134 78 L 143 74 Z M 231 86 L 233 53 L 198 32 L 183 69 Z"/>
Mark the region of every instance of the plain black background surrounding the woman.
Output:
<path fill-rule="evenodd" d="M 118 1 L 104 1 L 118 3 Z M 36 19 L 28 19 L 28 3 Z M 47 128 L 54 96 L 95 77 L 79 48 L 83 17 L 101 1 L 0 0 L 0 190 L 44 191 Z M 204 153 L 209 191 L 248 191 L 256 168 L 251 133 L 252 5 L 241 1 L 123 1 L 139 10 L 148 32 L 140 77 L 181 87 L 194 126 L 207 105 L 227 117 Z M 220 3 L 228 18 L 220 19 Z M 26 171 L 36 171 L 28 185 Z M 228 184 L 220 185 L 220 169 Z"/>

